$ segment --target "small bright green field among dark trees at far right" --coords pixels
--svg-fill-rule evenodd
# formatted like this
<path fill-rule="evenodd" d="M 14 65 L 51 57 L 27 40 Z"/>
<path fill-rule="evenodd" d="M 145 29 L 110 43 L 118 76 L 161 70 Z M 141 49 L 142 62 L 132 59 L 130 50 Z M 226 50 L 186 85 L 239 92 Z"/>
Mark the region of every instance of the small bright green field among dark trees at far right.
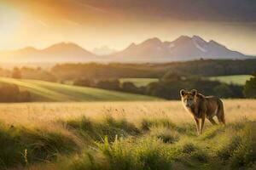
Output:
<path fill-rule="evenodd" d="M 247 80 L 253 77 L 251 75 L 233 75 L 233 76 L 221 76 L 221 77 L 210 77 L 210 80 L 225 82 L 225 83 L 233 83 L 237 85 L 245 85 Z"/>

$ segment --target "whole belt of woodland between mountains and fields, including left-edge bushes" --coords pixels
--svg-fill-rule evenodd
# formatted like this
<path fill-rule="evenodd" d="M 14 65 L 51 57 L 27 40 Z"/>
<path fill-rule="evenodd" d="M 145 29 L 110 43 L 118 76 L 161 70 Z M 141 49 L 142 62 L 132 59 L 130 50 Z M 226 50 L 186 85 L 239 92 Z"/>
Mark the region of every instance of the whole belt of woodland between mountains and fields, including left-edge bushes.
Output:
<path fill-rule="evenodd" d="M 179 99 L 178 91 L 182 88 L 196 88 L 203 94 L 218 95 L 221 98 L 256 98 L 256 78 L 247 81 L 245 86 L 225 84 L 206 78 L 230 75 L 253 75 L 255 77 L 255 73 L 256 59 L 201 59 L 166 64 L 61 64 L 55 65 L 50 70 L 40 67 L 0 69 L 0 77 L 69 82 L 76 86 L 145 94 L 163 99 Z M 119 82 L 119 78 L 125 77 L 157 78 L 159 81 L 136 87 L 133 82 Z M 0 102 L 31 100 L 29 92 L 24 92 L 15 86 L 2 84 L 0 88 L 1 94 L 4 94 Z"/>

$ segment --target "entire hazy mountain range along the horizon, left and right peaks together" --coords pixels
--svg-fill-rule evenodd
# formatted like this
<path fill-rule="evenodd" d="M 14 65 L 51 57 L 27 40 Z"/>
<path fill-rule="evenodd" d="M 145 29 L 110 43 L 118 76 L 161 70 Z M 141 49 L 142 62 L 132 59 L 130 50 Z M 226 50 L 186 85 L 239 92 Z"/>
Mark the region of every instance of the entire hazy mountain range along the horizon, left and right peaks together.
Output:
<path fill-rule="evenodd" d="M 105 50 L 108 49 L 103 48 Z M 101 54 L 102 55 L 99 55 Z M 213 40 L 207 42 L 201 37 L 181 36 L 172 42 L 150 38 L 131 45 L 122 51 L 104 54 L 101 48 L 97 54 L 81 48 L 72 42 L 56 43 L 49 48 L 32 47 L 13 51 L 0 51 L 4 62 L 170 62 L 194 59 L 247 59 L 248 56 L 232 51 Z"/>

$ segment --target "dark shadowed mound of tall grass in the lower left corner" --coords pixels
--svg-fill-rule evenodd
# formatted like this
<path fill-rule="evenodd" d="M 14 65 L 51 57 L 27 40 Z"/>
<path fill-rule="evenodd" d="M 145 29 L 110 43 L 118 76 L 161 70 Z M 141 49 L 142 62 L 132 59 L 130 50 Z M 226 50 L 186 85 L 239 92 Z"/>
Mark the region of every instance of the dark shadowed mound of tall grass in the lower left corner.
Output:
<path fill-rule="evenodd" d="M 47 128 L 0 126 L 0 168 L 19 167 L 37 161 L 53 161 L 59 154 L 79 150 L 77 143 L 67 133 Z"/>

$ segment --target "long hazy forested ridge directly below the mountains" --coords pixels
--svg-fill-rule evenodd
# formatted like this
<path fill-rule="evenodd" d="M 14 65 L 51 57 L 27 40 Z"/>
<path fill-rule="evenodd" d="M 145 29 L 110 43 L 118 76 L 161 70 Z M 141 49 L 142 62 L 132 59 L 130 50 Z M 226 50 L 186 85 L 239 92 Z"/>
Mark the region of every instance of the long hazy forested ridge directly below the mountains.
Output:
<path fill-rule="evenodd" d="M 256 59 L 201 59 L 166 64 L 63 64 L 55 65 L 50 72 L 59 80 L 73 80 L 120 77 L 160 78 L 170 71 L 183 76 L 250 75 L 256 71 Z"/>

